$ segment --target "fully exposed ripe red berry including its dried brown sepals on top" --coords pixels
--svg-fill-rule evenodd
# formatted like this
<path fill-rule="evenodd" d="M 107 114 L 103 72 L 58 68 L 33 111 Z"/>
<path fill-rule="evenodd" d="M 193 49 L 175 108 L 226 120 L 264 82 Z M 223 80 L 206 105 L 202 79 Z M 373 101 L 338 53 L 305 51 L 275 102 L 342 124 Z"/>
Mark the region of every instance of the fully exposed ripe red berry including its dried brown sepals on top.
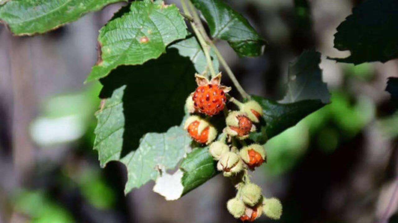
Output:
<path fill-rule="evenodd" d="M 221 73 L 213 77 L 211 81 L 201 75 L 195 75 L 198 87 L 192 95 L 195 110 L 206 115 L 216 115 L 224 109 L 226 96 L 230 90 L 220 85 Z"/>

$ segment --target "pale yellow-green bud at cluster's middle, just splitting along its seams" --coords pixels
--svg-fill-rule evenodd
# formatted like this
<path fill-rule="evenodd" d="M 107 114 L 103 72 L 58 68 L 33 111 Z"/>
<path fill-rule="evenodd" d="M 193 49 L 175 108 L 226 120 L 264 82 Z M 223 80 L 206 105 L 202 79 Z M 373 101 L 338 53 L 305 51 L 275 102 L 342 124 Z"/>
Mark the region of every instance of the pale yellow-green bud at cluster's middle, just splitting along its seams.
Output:
<path fill-rule="evenodd" d="M 217 169 L 223 171 L 224 177 L 231 177 L 243 169 L 242 160 L 236 153 L 226 152 L 221 155 Z"/>

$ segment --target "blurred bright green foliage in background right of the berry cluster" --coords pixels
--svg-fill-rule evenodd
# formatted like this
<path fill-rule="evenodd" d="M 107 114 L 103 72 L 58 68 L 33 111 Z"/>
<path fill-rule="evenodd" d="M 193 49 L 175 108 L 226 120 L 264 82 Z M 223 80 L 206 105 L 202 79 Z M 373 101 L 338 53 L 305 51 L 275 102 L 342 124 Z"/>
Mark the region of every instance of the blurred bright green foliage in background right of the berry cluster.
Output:
<path fill-rule="evenodd" d="M 277 176 L 291 170 L 305 155 L 312 140 L 323 152 L 333 152 L 375 116 L 375 105 L 365 96 L 352 98 L 343 90 L 335 90 L 330 100 L 330 104 L 265 144 L 268 161 L 262 168 L 267 173 Z"/>

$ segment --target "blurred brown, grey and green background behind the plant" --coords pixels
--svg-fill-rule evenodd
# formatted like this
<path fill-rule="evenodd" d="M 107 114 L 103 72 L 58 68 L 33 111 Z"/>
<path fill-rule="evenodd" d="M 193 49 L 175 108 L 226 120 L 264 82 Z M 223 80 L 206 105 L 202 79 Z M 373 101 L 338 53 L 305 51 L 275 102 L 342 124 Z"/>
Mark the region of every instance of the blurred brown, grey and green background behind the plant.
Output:
<path fill-rule="evenodd" d="M 258 58 L 217 43 L 249 93 L 281 99 L 289 62 L 310 48 L 322 53 L 332 92 L 331 104 L 267 142 L 268 163 L 253 173 L 265 196 L 281 198 L 279 222 L 398 222 L 398 113 L 384 91 L 398 60 L 326 59 L 349 55 L 333 48 L 333 35 L 361 0 L 227 2 L 268 40 Z M 238 222 L 225 205 L 234 189 L 220 175 L 166 202 L 153 182 L 125 196 L 120 163 L 100 168 L 92 144 L 101 86 L 83 81 L 98 30 L 120 6 L 36 37 L 0 26 L 0 223 Z"/>

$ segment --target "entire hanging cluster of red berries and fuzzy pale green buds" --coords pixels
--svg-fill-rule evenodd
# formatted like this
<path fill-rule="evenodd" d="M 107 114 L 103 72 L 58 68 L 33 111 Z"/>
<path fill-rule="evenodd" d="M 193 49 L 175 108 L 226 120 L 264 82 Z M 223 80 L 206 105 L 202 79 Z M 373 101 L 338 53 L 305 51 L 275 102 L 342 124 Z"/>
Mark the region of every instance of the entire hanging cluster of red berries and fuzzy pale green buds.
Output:
<path fill-rule="evenodd" d="M 263 162 L 266 162 L 266 154 L 263 146 L 244 142 L 250 133 L 256 131 L 256 123 L 260 122 L 263 115 L 261 106 L 256 101 L 246 103 L 237 102 L 239 111 L 228 111 L 225 108 L 229 87 L 220 85 L 221 74 L 210 81 L 201 75 L 195 75 L 198 87 L 185 103 L 189 113 L 203 113 L 189 116 L 184 124 L 189 135 L 200 144 L 210 144 L 209 152 L 218 161 L 217 169 L 222 171 L 225 177 L 230 177 L 237 189 L 235 198 L 227 202 L 228 211 L 242 221 L 254 221 L 264 213 L 271 219 L 279 219 L 282 214 L 282 205 L 276 198 L 265 198 L 261 194 L 261 188 L 250 183 L 248 170 L 254 170 Z M 228 96 L 229 97 L 229 96 Z M 208 121 L 209 117 L 217 115 L 222 110 L 226 115 L 226 127 L 219 140 L 217 129 Z M 245 145 L 238 149 L 236 140 Z M 231 145 L 232 144 L 232 145 Z"/>

